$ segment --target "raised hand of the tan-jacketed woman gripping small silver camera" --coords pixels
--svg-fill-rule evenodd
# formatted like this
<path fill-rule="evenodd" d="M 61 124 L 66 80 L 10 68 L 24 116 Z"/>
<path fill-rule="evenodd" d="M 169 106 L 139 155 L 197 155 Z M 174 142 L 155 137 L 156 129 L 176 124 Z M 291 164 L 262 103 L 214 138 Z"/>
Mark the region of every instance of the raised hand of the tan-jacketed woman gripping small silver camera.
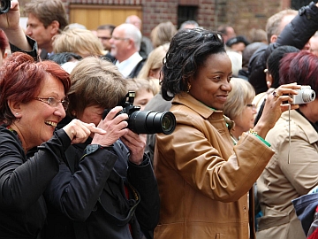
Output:
<path fill-rule="evenodd" d="M 297 95 L 296 89 L 300 89 L 300 87 L 301 86 L 296 83 L 281 85 L 268 96 L 261 114 L 261 119 L 254 127 L 254 131 L 256 131 L 258 135 L 265 138 L 269 129 L 275 126 L 282 112 L 287 111 L 289 107 L 291 107 L 291 110 L 299 108 L 298 104 L 290 104 L 292 103 L 292 97 L 290 95 Z"/>

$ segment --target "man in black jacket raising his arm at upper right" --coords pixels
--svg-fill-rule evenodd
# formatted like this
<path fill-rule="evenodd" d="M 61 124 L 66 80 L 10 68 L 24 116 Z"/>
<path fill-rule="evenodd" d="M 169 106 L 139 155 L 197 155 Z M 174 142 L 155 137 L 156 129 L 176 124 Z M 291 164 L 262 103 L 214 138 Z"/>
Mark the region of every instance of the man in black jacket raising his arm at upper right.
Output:
<path fill-rule="evenodd" d="M 269 89 L 264 70 L 273 50 L 282 45 L 309 50 L 308 41 L 318 29 L 317 5 L 312 2 L 300 8 L 299 12 L 291 9 L 283 10 L 268 19 L 266 32 L 269 46 L 256 50 L 248 66 L 248 81 L 254 86 L 256 95 Z"/>

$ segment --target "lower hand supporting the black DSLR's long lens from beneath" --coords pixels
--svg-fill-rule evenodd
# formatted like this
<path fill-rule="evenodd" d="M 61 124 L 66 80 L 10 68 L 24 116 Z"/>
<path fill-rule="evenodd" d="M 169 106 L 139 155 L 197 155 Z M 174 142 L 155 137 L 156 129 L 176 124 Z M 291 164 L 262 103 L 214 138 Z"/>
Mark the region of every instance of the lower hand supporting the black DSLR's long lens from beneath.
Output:
<path fill-rule="evenodd" d="M 132 130 L 128 130 L 128 133 L 120 139 L 130 151 L 129 161 L 135 165 L 140 165 L 143 160 L 147 136 L 141 134 L 138 135 L 133 133 Z"/>

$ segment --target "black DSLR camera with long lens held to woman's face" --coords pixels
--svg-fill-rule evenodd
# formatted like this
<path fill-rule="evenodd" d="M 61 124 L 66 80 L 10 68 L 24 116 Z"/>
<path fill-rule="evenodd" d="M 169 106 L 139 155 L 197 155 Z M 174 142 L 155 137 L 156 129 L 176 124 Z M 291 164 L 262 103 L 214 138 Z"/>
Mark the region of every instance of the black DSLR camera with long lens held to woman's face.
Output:
<path fill-rule="evenodd" d="M 123 111 L 118 114 L 128 114 L 128 128 L 136 134 L 156 134 L 163 133 L 164 135 L 170 135 L 176 128 L 176 117 L 172 112 L 152 112 L 152 111 L 140 111 L 140 106 L 133 105 L 133 99 L 135 97 L 134 91 L 129 91 L 126 95 L 123 103 Z M 104 110 L 102 113 L 102 120 L 110 110 Z"/>

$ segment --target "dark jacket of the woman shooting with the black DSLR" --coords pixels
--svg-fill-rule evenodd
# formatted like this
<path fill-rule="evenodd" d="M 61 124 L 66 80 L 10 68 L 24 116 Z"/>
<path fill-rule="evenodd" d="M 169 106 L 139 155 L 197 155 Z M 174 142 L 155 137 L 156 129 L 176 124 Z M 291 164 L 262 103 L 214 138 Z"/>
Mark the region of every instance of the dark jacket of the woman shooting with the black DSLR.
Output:
<path fill-rule="evenodd" d="M 68 166 L 60 165 L 45 192 L 45 238 L 151 238 L 160 202 L 149 158 L 136 166 L 119 140 L 106 149 L 89 143 L 66 151 Z"/>

